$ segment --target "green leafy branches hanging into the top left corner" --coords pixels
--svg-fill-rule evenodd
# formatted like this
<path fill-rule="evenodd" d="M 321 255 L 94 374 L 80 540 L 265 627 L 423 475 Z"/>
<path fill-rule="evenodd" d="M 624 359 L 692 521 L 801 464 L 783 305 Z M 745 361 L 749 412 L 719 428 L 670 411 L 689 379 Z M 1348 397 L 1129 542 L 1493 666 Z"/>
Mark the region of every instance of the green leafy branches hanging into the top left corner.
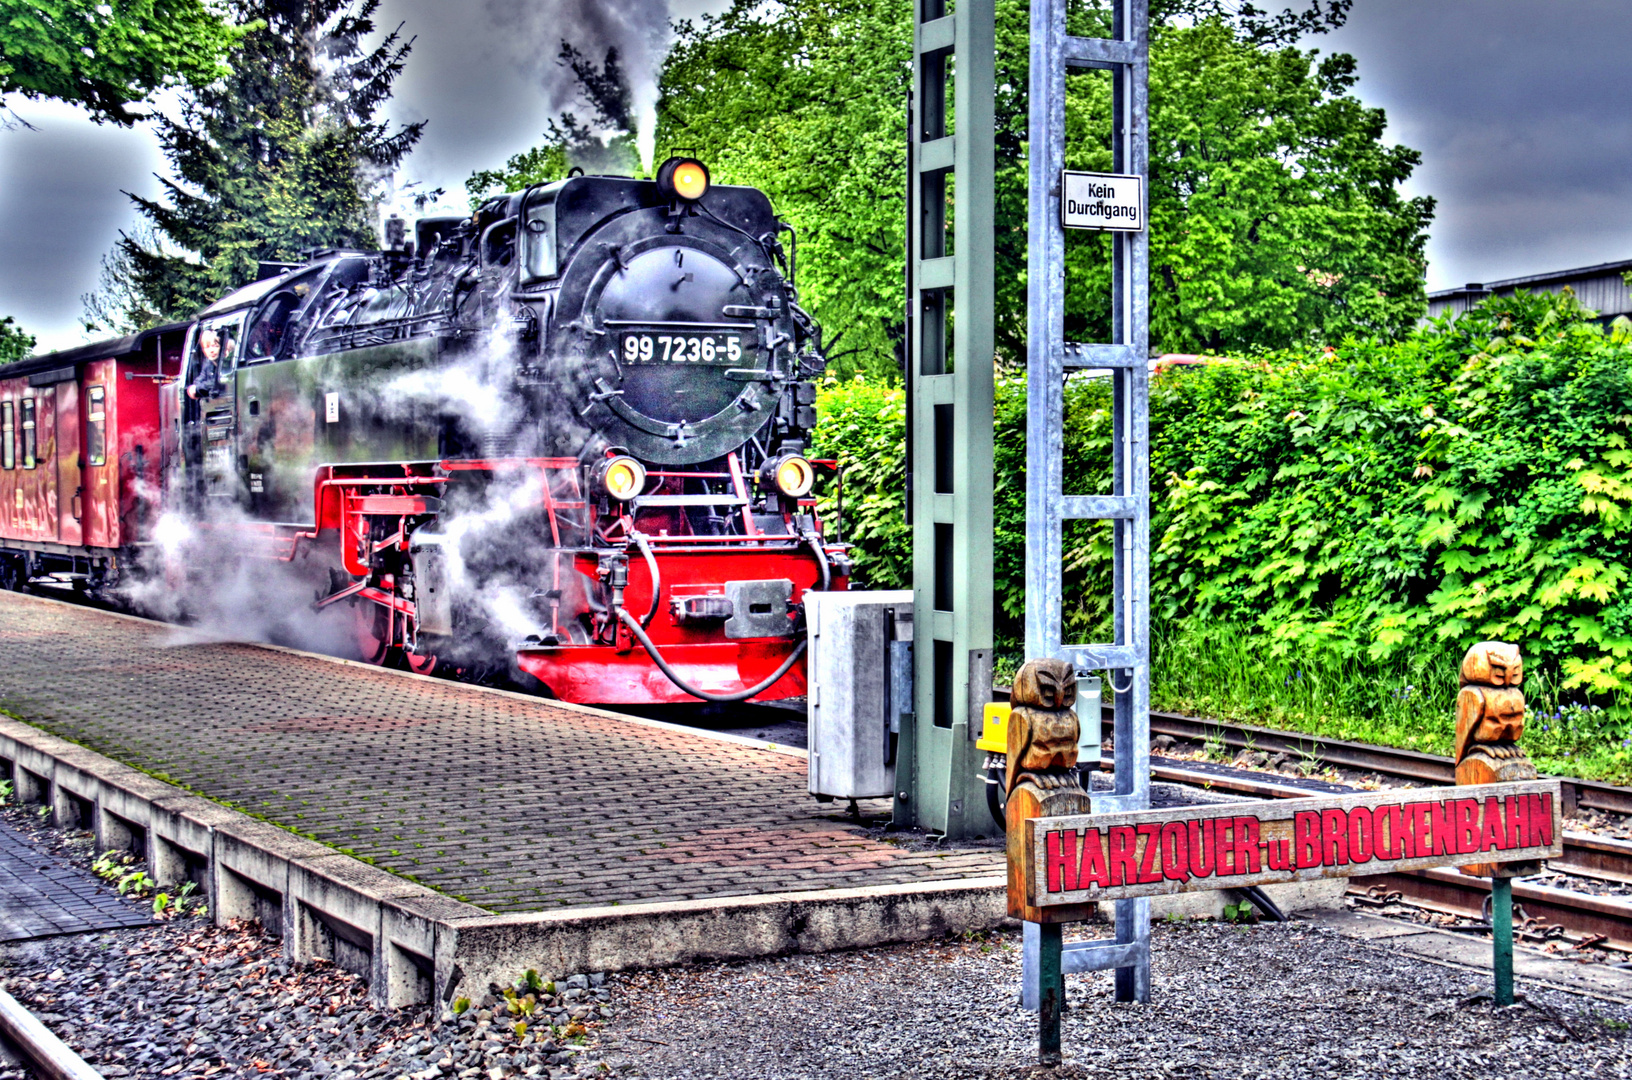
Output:
<path fill-rule="evenodd" d="M 224 77 L 245 29 L 206 0 L 0 0 L 0 103 L 57 98 L 131 124 L 126 106 L 155 90 Z"/>

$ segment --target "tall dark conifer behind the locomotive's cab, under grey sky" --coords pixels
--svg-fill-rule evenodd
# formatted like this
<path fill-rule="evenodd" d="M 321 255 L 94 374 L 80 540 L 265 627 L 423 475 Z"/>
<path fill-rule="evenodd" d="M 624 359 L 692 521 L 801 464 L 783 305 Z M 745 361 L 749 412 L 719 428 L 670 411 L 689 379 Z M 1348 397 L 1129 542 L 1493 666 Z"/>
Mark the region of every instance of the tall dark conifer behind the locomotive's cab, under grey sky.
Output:
<path fill-rule="evenodd" d="M 401 28 L 372 49 L 380 0 L 243 0 L 250 29 L 230 73 L 160 121 L 176 179 L 163 199 L 131 196 L 152 235 L 122 233 L 103 261 L 86 326 L 131 330 L 186 318 L 255 281 L 259 261 L 313 248 L 379 246 L 387 181 L 424 122 L 375 119 L 413 41 Z M 129 193 L 126 193 L 129 194 Z"/>

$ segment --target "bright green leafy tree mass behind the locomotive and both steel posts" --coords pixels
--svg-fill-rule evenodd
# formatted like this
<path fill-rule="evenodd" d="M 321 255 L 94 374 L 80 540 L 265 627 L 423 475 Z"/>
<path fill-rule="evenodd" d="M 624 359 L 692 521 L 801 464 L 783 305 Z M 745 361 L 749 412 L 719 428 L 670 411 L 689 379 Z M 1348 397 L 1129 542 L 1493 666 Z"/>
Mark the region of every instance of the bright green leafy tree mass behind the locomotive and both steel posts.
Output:
<path fill-rule="evenodd" d="M 677 26 L 658 147 L 694 147 L 716 179 L 764 188 L 800 228 L 805 300 L 857 349 L 836 370 L 886 374 L 902 331 L 909 0 L 754 0 Z M 1152 5 L 1154 343 L 1172 351 L 1400 333 L 1425 308 L 1433 204 L 1397 184 L 1417 155 L 1384 147 L 1353 98 L 1355 64 L 1293 47 L 1346 3 L 1275 15 L 1222 0 Z M 1071 29 L 1105 34 L 1075 5 Z M 1028 11 L 997 2 L 997 344 L 1025 354 Z M 1074 168 L 1108 170 L 1110 85 L 1069 80 Z M 956 193 L 953 191 L 953 197 Z M 1067 333 L 1108 331 L 1108 241 L 1069 243 Z"/>

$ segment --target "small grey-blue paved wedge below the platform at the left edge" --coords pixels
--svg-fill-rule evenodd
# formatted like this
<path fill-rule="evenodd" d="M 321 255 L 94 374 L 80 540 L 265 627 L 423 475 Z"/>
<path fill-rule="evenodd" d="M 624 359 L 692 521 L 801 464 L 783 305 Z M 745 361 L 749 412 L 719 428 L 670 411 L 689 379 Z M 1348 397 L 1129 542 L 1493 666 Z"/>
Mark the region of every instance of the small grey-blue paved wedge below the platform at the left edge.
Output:
<path fill-rule="evenodd" d="M 0 941 L 152 923 L 83 870 L 41 852 L 0 821 Z"/>

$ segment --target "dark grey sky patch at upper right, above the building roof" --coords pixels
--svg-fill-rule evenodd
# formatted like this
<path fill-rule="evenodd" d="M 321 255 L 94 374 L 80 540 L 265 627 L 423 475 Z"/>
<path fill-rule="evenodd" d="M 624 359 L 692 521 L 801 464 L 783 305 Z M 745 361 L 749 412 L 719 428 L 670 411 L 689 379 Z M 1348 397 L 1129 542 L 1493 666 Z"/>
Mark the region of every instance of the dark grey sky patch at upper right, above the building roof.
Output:
<path fill-rule="evenodd" d="M 1310 41 L 1421 150 L 1430 289 L 1632 258 L 1629 31 L 1625 0 L 1358 0 Z"/>

